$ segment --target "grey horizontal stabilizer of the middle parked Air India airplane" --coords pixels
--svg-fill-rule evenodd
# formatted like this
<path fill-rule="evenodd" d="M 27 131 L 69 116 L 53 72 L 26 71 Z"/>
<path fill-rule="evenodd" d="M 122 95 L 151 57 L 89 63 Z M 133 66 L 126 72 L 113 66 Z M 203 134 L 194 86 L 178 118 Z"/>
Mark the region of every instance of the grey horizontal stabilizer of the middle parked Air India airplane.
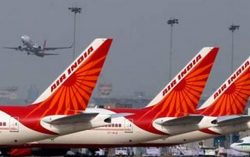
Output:
<path fill-rule="evenodd" d="M 198 124 L 202 120 L 203 116 L 201 115 L 188 115 L 183 116 L 179 118 L 174 118 L 170 120 L 161 120 L 156 121 L 157 124 L 163 125 L 163 126 L 181 126 L 181 125 L 195 125 Z"/>

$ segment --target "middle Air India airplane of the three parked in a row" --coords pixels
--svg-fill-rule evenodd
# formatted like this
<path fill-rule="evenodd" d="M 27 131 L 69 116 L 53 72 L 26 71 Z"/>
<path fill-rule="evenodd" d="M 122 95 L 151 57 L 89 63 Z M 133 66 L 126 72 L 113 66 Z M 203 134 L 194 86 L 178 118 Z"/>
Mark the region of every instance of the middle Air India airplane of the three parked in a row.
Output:
<path fill-rule="evenodd" d="M 113 117 L 110 124 L 101 127 L 26 143 L 25 147 L 93 148 L 135 145 L 162 136 L 172 136 L 210 126 L 210 124 L 200 126 L 198 123 L 202 117 L 189 113 L 196 112 L 196 106 L 218 50 L 215 47 L 203 48 L 146 107 L 140 109 L 87 108 L 84 113 L 124 116 Z"/>

